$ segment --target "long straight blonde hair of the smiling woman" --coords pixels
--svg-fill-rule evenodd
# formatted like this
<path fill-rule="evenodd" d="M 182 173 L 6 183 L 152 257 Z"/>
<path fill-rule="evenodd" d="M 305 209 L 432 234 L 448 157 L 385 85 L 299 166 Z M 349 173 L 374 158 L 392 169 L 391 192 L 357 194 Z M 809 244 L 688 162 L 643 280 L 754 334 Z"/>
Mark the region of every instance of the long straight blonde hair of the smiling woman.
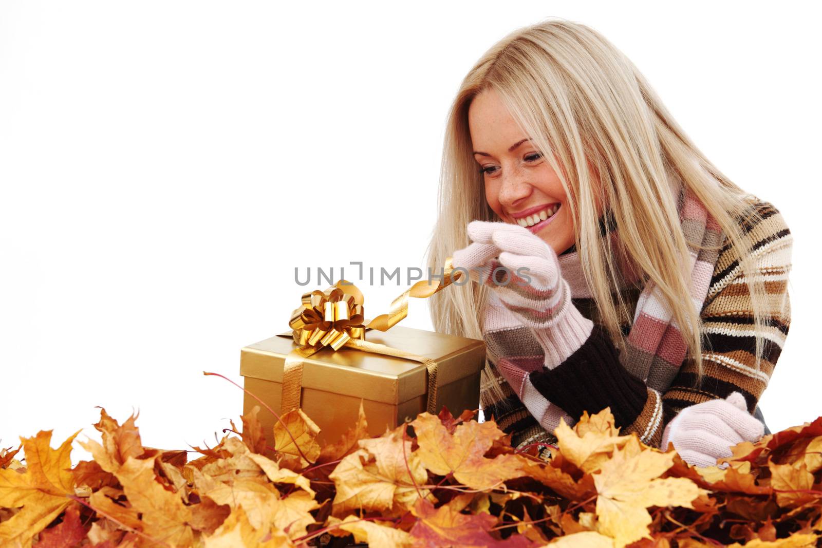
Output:
<path fill-rule="evenodd" d="M 466 225 L 499 221 L 485 200 L 483 175 L 473 158 L 468 110 L 472 99 L 493 89 L 512 117 L 550 162 L 568 196 L 577 250 L 603 326 L 625 348 L 619 318 L 626 316 L 610 238 L 600 234 L 594 192 L 601 192 L 615 220 L 630 265 L 653 280 L 672 309 L 688 354 L 703 375 L 700 310 L 689 293 L 685 235 L 677 213 L 677 189 L 686 185 L 717 220 L 746 274 L 755 257 L 742 243 L 741 219 L 759 214 L 756 197 L 737 187 L 705 158 L 663 106 L 648 81 L 624 54 L 586 25 L 550 18 L 515 30 L 494 44 L 465 76 L 451 105 L 443 145 L 439 210 L 427 264 L 438 272 L 446 257 L 469 245 Z M 552 153 L 552 154 L 551 154 Z M 591 169 L 601 184 L 593 180 Z M 723 242 L 724 243 L 724 242 Z M 713 248 L 715 249 L 715 248 Z M 763 352 L 765 289 L 761 276 L 746 275 L 755 311 L 756 368 Z M 455 285 L 429 299 L 437 331 L 483 338 L 480 314 L 490 288 Z M 616 298 L 616 302 L 615 302 Z M 631 311 L 632 312 L 632 311 Z M 503 392 L 490 365 L 483 394 Z"/>

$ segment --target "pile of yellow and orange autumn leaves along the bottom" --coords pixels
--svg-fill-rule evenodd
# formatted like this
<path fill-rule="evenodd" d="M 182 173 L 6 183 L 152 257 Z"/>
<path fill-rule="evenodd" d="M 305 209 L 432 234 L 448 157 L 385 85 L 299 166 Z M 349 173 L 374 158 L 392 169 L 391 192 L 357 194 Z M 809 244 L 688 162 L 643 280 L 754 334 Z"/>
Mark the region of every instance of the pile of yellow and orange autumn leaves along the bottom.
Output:
<path fill-rule="evenodd" d="M 607 409 L 562 423 L 547 463 L 472 412 L 369 438 L 361 408 L 321 447 L 295 410 L 272 448 L 257 411 L 190 462 L 104 410 L 76 467 L 79 431 L 56 450 L 51 431 L 21 438 L 25 467 L 0 451 L 0 545 L 816 546 L 822 532 L 822 417 L 698 469 L 619 435 Z"/>

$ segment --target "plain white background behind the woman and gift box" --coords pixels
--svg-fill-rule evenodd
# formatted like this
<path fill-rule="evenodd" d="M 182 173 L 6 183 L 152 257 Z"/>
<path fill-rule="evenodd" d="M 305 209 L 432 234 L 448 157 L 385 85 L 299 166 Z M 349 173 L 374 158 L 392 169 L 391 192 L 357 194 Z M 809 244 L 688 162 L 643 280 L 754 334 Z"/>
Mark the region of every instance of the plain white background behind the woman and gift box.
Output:
<path fill-rule="evenodd" d="M 817 417 L 810 2 L 27 1 L 0 3 L 0 446 L 96 438 L 98 405 L 139 409 L 146 445 L 214 444 L 242 391 L 202 371 L 240 381 L 240 348 L 287 329 L 295 267 L 423 265 L 459 81 L 547 16 L 611 39 L 783 212 L 792 326 L 761 404 L 774 431 Z M 375 313 L 407 287 L 346 277 Z"/>

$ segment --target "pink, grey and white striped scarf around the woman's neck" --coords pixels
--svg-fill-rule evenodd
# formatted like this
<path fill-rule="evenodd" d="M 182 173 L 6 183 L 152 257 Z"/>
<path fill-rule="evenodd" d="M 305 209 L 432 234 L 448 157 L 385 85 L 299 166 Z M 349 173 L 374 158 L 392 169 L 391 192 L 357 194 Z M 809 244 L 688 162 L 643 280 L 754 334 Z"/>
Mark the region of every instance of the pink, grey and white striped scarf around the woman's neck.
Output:
<path fill-rule="evenodd" d="M 708 294 L 723 233 L 690 189 L 680 187 L 677 211 L 689 251 L 690 295 L 697 311 L 700 311 Z M 661 393 L 671 385 L 685 360 L 686 342 L 677 323 L 672 320 L 672 311 L 656 285 L 650 280 L 640 279 L 628 266 L 630 261 L 623 260 L 617 251 L 621 249 L 619 231 L 612 214 L 605 214 L 599 219 L 599 228 L 602 237 L 611 239 L 612 262 L 618 270 L 617 287 L 622 289 L 632 285 L 637 290 L 642 288 L 636 303 L 633 323 L 626 337 L 626 347 L 621 349 L 619 360 L 626 371 L 643 380 L 649 391 L 653 392 L 656 400 L 653 421 L 658 425 L 657 415 L 662 405 Z M 700 250 L 699 246 L 715 249 Z M 571 297 L 593 297 L 585 282 L 580 255 L 575 246 L 557 258 L 561 275 L 569 285 Z M 488 305 L 491 306 L 491 313 L 488 315 L 487 325 L 483 326 L 489 357 L 496 361 L 498 369 L 512 389 L 547 431 L 552 431 L 558 425 L 560 417 L 569 422 L 575 420 L 577 417 L 568 417 L 555 404 L 547 402 L 547 398 L 534 390 L 527 381 L 529 371 L 542 368 L 542 358 L 536 355 L 542 352 L 539 351 L 533 335 L 525 334 L 530 329 L 523 330 L 522 325 L 517 327 L 519 322 L 506 312 L 495 297 L 492 293 L 492 301 Z M 514 348 L 516 350 L 513 353 L 517 354 L 515 356 L 511 355 Z"/>

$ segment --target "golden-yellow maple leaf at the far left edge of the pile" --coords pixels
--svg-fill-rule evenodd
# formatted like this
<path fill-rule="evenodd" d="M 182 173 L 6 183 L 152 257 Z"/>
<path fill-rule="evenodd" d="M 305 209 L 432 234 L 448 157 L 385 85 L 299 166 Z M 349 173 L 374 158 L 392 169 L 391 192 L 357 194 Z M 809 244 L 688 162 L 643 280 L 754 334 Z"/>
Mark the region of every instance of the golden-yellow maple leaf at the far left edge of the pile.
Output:
<path fill-rule="evenodd" d="M 0 508 L 20 508 L 12 518 L 0 523 L 2 544 L 31 546 L 32 538 L 72 502 L 72 441 L 76 431 L 51 448 L 52 431 L 39 431 L 33 438 L 23 438 L 25 473 L 10 468 L 0 469 Z"/>

